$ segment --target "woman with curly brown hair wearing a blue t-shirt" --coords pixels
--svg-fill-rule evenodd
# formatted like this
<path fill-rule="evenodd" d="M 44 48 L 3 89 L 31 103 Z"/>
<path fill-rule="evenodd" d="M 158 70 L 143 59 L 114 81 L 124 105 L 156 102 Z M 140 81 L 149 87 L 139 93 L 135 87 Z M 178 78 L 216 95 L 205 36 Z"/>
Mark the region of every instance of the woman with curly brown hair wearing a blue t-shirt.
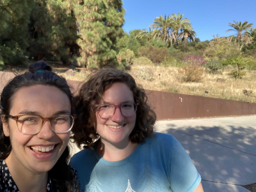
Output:
<path fill-rule="evenodd" d="M 154 133 L 156 114 L 128 73 L 99 70 L 76 98 L 78 147 L 70 165 L 81 191 L 204 191 L 179 142 Z"/>

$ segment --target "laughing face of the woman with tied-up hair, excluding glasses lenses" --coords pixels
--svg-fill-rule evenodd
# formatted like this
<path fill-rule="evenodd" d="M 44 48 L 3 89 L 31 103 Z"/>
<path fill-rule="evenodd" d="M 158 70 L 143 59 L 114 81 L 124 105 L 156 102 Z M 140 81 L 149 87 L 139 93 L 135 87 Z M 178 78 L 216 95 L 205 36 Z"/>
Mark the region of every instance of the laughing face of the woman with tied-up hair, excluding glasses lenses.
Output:
<path fill-rule="evenodd" d="M 56 114 L 70 114 L 71 105 L 67 94 L 57 87 L 35 85 L 23 87 L 12 98 L 10 115 L 37 114 L 52 117 Z M 10 137 L 12 151 L 6 158 L 7 165 L 19 167 L 30 172 L 48 172 L 65 150 L 70 132 L 56 134 L 51 122 L 36 135 L 24 135 L 17 128 L 16 121 L 8 118 L 3 124 L 4 135 Z M 8 166 L 9 166 L 8 165 Z"/>

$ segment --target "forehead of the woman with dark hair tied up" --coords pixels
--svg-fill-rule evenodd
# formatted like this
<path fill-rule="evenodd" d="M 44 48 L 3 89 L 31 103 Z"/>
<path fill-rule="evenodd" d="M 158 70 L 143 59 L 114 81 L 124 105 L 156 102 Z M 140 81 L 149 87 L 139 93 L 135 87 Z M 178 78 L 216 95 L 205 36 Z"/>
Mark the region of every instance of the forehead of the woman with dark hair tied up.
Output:
<path fill-rule="evenodd" d="M 22 87 L 12 98 L 10 114 L 17 115 L 28 110 L 49 117 L 60 110 L 71 110 L 67 94 L 54 86 L 35 85 Z"/>

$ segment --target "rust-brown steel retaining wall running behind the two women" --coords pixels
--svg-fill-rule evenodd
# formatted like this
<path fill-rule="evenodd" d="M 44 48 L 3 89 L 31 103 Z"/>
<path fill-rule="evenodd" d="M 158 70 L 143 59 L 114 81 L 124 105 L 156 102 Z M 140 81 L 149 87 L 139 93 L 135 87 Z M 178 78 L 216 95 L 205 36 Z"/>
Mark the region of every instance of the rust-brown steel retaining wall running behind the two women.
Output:
<path fill-rule="evenodd" d="M 0 92 L 6 82 L 14 76 L 13 73 L 0 71 Z M 72 87 L 72 92 L 77 94 L 79 86 L 82 83 L 68 80 L 68 84 Z M 157 120 L 256 114 L 256 103 L 221 100 L 161 91 L 145 90 L 145 92 L 147 93 L 150 106 L 156 112 Z"/>

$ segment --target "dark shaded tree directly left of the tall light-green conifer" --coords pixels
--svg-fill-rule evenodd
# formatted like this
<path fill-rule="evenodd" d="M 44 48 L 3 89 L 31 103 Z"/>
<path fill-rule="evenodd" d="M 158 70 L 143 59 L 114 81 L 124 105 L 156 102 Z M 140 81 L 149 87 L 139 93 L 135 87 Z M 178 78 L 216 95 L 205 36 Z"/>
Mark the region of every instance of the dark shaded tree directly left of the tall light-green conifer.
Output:
<path fill-rule="evenodd" d="M 31 13 L 29 52 L 31 57 L 42 53 L 49 60 L 70 63 L 78 54 L 77 27 L 69 1 L 36 0 Z"/>

